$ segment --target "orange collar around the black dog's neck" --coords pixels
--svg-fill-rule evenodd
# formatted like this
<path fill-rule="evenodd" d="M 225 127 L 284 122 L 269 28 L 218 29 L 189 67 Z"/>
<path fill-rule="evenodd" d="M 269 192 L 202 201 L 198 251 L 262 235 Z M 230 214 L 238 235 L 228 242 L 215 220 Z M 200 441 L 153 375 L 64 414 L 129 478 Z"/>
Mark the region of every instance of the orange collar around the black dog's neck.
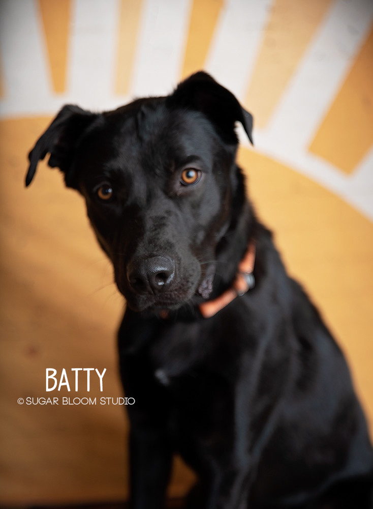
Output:
<path fill-rule="evenodd" d="M 238 265 L 236 278 L 233 281 L 231 288 L 226 290 L 222 295 L 214 300 L 208 300 L 202 302 L 199 305 L 199 310 L 203 318 L 211 318 L 216 313 L 221 311 L 223 307 L 227 306 L 237 296 L 242 296 L 248 290 L 251 290 L 255 286 L 255 279 L 253 275 L 255 265 L 255 242 L 251 241 L 248 245 L 245 256 L 242 258 Z"/>

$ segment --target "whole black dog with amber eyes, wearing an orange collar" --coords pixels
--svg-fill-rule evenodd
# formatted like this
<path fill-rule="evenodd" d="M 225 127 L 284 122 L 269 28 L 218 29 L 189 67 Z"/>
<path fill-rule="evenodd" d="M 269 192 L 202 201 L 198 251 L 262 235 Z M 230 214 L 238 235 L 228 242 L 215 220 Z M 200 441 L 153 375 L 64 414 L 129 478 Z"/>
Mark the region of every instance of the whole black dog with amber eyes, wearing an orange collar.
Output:
<path fill-rule="evenodd" d="M 253 119 L 203 72 L 167 97 L 65 106 L 30 153 L 85 198 L 128 307 L 119 330 L 134 509 L 178 451 L 201 509 L 370 506 L 373 453 L 346 362 L 290 279 L 235 162 Z"/>

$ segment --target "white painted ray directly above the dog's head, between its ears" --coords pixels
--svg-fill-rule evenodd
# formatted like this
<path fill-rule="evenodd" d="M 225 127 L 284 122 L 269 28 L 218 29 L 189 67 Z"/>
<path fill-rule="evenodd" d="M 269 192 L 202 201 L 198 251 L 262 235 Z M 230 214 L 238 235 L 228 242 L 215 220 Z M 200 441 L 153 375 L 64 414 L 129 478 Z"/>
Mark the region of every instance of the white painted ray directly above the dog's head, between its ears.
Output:
<path fill-rule="evenodd" d="M 181 72 L 192 0 L 145 0 L 139 27 L 131 95 L 166 95 Z"/>

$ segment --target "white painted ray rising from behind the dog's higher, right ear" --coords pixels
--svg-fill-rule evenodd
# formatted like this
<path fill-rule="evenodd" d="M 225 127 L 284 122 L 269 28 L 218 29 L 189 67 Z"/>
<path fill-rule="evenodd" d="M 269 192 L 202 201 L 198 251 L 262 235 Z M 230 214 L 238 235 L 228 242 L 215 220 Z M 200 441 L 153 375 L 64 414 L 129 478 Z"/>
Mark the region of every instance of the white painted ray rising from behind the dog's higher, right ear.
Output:
<path fill-rule="evenodd" d="M 222 9 L 205 70 L 243 101 L 258 58 L 273 0 L 228 0 Z"/>

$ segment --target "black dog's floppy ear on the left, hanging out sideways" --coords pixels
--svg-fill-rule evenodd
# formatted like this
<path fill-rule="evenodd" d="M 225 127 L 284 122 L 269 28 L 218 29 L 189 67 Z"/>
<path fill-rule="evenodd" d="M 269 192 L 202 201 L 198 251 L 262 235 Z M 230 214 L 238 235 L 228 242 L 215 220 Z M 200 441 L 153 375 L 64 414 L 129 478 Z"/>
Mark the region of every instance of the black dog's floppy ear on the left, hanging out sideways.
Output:
<path fill-rule="evenodd" d="M 79 106 L 72 104 L 64 106 L 28 154 L 30 165 L 26 175 L 26 186 L 33 180 L 39 160 L 44 159 L 49 152 L 48 165 L 51 168 L 58 167 L 64 172 L 66 185 L 74 187 L 71 163 L 75 148 L 85 129 L 97 117 L 98 115 Z"/>

